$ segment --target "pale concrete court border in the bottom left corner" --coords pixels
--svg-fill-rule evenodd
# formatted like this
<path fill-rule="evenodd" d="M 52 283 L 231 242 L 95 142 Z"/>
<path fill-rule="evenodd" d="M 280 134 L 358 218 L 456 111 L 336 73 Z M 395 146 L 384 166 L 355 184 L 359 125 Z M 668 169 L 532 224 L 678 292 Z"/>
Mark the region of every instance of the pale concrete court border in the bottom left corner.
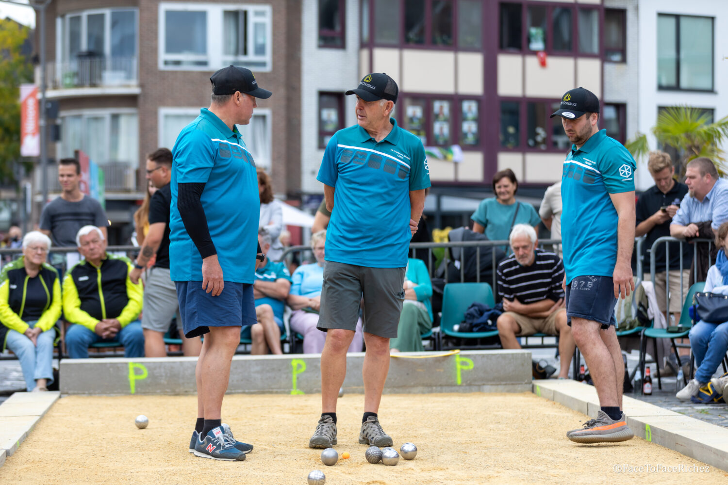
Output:
<path fill-rule="evenodd" d="M 58 390 L 44 393 L 13 393 L 0 404 L 0 466 L 25 441 L 36 423 L 58 401 Z"/>

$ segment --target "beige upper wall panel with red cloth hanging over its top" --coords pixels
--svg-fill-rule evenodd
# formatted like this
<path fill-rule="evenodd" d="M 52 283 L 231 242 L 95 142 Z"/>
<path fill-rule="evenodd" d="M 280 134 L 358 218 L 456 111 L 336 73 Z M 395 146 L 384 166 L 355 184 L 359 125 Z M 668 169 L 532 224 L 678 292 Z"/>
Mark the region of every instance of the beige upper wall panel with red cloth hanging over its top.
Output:
<path fill-rule="evenodd" d="M 574 87 L 574 57 L 549 56 L 545 68 L 535 55 L 525 57 L 526 96 L 558 99 Z"/>

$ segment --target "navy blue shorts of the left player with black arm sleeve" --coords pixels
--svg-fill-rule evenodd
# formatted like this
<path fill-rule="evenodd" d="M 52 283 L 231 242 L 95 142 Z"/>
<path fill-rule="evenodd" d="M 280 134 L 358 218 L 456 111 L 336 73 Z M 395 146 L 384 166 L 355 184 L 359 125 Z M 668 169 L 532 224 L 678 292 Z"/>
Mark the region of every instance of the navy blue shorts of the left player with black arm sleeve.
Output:
<path fill-rule="evenodd" d="M 202 281 L 175 281 L 184 336 L 210 332 L 210 326 L 245 326 L 256 323 L 253 284 L 225 281 L 223 292 L 213 297 Z"/>

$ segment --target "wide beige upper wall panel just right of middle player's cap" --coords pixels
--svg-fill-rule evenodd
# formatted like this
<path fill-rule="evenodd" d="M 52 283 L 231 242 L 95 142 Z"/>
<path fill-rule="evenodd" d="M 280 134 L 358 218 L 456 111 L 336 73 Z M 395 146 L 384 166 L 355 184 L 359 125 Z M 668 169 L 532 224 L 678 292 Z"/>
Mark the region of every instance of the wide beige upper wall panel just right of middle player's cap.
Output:
<path fill-rule="evenodd" d="M 455 53 L 402 50 L 402 90 L 455 94 Z"/>

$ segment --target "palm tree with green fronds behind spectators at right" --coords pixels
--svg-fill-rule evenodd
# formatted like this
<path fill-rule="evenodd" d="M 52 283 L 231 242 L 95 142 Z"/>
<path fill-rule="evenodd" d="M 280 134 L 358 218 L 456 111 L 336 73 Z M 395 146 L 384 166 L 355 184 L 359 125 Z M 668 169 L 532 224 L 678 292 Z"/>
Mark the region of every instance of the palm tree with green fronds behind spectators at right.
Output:
<path fill-rule="evenodd" d="M 673 164 L 678 174 L 685 174 L 687 162 L 706 156 L 716 164 L 721 177 L 726 173 L 724 151 L 721 145 L 728 141 L 728 116 L 714 123 L 711 114 L 692 106 L 670 106 L 657 114 L 657 124 L 652 134 L 657 143 L 673 149 Z M 628 140 L 625 147 L 636 159 L 649 153 L 647 137 L 637 132 L 636 137 Z"/>

